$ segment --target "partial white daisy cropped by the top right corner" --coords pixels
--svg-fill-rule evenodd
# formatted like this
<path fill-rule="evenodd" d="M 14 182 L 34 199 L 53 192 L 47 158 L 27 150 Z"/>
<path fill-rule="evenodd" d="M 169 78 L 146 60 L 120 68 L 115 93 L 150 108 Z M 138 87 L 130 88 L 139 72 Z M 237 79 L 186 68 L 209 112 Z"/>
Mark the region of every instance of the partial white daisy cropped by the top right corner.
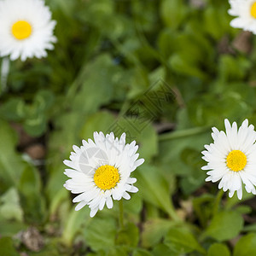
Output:
<path fill-rule="evenodd" d="M 255 0 L 230 0 L 231 9 L 228 13 L 237 16 L 231 20 L 230 26 L 256 34 L 256 1 Z"/>

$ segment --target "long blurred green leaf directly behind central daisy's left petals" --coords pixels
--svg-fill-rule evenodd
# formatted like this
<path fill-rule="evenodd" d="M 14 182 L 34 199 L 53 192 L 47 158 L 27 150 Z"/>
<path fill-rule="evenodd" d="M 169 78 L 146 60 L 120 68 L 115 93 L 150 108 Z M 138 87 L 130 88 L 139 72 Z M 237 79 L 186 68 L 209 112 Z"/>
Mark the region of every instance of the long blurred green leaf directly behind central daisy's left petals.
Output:
<path fill-rule="evenodd" d="M 79 132 L 84 125 L 80 113 L 72 112 L 61 114 L 55 119 L 55 131 L 49 134 L 48 154 L 46 167 L 49 172 L 46 193 L 49 199 L 50 213 L 55 214 L 62 201 L 67 200 L 70 192 L 63 188 L 67 176 L 63 174 L 66 166 L 63 160 L 67 159 L 73 144 L 80 145 Z M 63 139 L 65 138 L 65 139 Z"/>

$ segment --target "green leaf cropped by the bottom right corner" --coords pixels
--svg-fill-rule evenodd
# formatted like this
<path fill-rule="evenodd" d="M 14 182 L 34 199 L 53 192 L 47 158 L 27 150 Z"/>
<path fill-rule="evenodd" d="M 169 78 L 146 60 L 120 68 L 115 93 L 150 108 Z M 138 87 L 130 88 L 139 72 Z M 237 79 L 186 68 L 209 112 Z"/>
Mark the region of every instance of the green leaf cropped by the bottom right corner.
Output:
<path fill-rule="evenodd" d="M 256 234 L 247 234 L 242 236 L 236 242 L 234 256 L 247 256 L 256 254 Z"/>

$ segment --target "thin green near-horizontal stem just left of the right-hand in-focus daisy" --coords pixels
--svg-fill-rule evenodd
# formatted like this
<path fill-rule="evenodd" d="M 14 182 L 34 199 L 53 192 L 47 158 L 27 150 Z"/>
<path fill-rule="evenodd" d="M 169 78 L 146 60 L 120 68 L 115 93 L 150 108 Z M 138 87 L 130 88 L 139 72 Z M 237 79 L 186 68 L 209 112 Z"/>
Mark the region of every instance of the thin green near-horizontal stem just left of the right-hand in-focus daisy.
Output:
<path fill-rule="evenodd" d="M 208 130 L 209 130 L 209 126 L 203 126 L 203 127 L 190 128 L 190 129 L 180 130 L 180 131 L 172 131 L 169 133 L 161 134 L 159 136 L 159 140 L 166 141 L 166 140 L 173 140 L 181 137 L 188 137 L 188 136 L 200 134 Z"/>

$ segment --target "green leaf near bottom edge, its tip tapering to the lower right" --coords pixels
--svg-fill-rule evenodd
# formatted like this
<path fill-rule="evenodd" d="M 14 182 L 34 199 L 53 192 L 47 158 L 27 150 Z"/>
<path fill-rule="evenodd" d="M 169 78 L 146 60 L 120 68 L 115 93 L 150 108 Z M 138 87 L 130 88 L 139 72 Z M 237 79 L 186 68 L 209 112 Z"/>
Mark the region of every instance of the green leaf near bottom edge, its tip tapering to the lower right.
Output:
<path fill-rule="evenodd" d="M 195 236 L 186 228 L 171 228 L 166 235 L 165 244 L 177 253 L 191 253 L 198 251 L 205 253 Z"/>

